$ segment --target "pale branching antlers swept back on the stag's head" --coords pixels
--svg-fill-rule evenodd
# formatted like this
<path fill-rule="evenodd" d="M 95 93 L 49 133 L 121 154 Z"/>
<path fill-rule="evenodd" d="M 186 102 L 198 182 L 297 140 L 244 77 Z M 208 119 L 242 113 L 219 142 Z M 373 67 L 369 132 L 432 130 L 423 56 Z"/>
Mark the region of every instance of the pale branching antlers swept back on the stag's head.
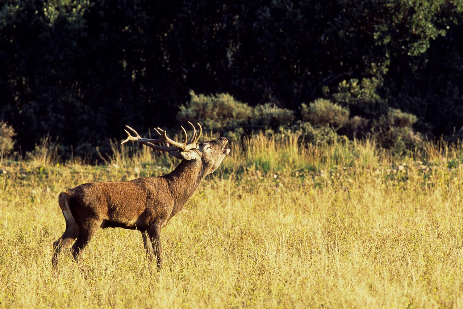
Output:
<path fill-rule="evenodd" d="M 188 151 L 188 150 L 196 148 L 196 143 L 200 139 L 200 136 L 201 136 L 201 133 L 202 133 L 202 128 L 201 128 L 201 125 L 199 123 L 197 123 L 198 126 L 200 127 L 199 134 L 196 132 L 196 128 L 194 127 L 194 125 L 189 121 L 188 121 L 188 123 L 193 128 L 193 135 L 188 140 L 187 131 L 185 130 L 185 128 L 183 126 L 181 126 L 181 129 L 182 129 L 183 133 L 185 134 L 185 139 L 184 139 L 183 143 L 179 143 L 179 142 L 176 142 L 173 139 L 169 139 L 169 137 L 167 136 L 167 132 L 164 131 L 163 129 L 161 129 L 160 127 L 158 127 L 157 129 L 156 128 L 154 129 L 156 131 L 156 133 L 159 135 L 159 138 L 157 138 L 157 139 L 143 139 L 137 133 L 137 131 L 132 129 L 130 126 L 126 126 L 129 130 L 131 130 L 133 133 L 135 133 L 135 136 L 131 136 L 131 134 L 127 130 L 124 130 L 125 133 L 127 133 L 128 136 L 127 136 L 127 139 L 125 139 L 121 143 L 121 145 L 128 142 L 129 140 L 131 140 L 132 142 L 141 143 L 141 144 L 144 144 L 144 145 L 146 145 L 148 147 L 151 147 L 151 148 L 154 148 L 154 149 L 157 149 L 157 150 L 160 150 L 160 151 L 177 151 L 177 150 Z M 166 146 L 155 145 L 155 144 L 159 144 L 159 143 L 166 143 L 167 145 Z"/>

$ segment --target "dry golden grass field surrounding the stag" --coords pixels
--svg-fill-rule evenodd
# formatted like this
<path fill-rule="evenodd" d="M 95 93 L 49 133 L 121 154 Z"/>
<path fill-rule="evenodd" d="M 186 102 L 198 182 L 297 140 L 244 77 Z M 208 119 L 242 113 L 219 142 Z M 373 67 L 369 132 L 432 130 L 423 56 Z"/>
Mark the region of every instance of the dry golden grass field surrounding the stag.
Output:
<path fill-rule="evenodd" d="M 159 272 L 139 232 L 111 228 L 81 268 L 65 252 L 53 272 L 57 196 L 175 161 L 116 145 L 100 166 L 57 163 L 50 145 L 4 160 L 0 307 L 463 308 L 463 147 L 397 157 L 368 141 L 301 149 L 296 138 L 232 145 L 163 229 Z"/>

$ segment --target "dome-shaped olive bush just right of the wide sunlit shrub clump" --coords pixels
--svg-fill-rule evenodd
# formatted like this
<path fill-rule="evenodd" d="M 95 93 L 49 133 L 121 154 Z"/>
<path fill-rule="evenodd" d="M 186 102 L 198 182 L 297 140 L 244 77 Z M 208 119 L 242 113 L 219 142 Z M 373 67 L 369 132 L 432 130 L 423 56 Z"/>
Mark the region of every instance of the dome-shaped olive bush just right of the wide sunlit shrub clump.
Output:
<path fill-rule="evenodd" d="M 342 127 L 349 121 L 349 109 L 326 99 L 317 99 L 309 106 L 302 103 L 302 120 L 313 125 Z"/>

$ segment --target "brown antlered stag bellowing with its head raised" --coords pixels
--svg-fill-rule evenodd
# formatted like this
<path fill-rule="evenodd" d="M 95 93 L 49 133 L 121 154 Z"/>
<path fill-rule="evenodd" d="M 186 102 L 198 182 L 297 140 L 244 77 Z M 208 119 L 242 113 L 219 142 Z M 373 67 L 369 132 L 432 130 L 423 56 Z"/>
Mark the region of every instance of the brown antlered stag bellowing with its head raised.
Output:
<path fill-rule="evenodd" d="M 150 265 L 156 258 L 157 269 L 161 269 L 161 229 L 177 214 L 193 195 L 201 181 L 222 163 L 230 153 L 225 148 L 224 137 L 199 143 L 195 126 L 190 139 L 183 126 L 183 142 L 167 136 L 161 128 L 155 128 L 157 139 L 144 139 L 130 126 L 127 138 L 122 141 L 140 143 L 181 160 L 173 171 L 159 177 L 142 177 L 131 181 L 83 183 L 61 192 L 58 204 L 66 221 L 66 230 L 53 243 L 52 265 L 56 268 L 60 252 L 71 247 L 72 256 L 79 262 L 85 246 L 99 228 L 122 227 L 138 230 L 142 234 L 144 250 Z M 166 144 L 166 145 L 158 145 Z"/>

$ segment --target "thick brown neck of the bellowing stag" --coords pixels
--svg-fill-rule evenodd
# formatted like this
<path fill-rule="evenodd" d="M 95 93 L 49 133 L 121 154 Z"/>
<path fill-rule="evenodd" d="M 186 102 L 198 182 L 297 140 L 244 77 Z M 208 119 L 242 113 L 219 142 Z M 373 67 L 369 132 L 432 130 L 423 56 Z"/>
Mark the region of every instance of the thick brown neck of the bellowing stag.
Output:
<path fill-rule="evenodd" d="M 204 177 L 206 177 L 206 172 L 201 162 L 197 160 L 183 160 L 175 170 L 164 176 L 174 198 L 175 205 L 172 215 L 183 208 Z"/>

